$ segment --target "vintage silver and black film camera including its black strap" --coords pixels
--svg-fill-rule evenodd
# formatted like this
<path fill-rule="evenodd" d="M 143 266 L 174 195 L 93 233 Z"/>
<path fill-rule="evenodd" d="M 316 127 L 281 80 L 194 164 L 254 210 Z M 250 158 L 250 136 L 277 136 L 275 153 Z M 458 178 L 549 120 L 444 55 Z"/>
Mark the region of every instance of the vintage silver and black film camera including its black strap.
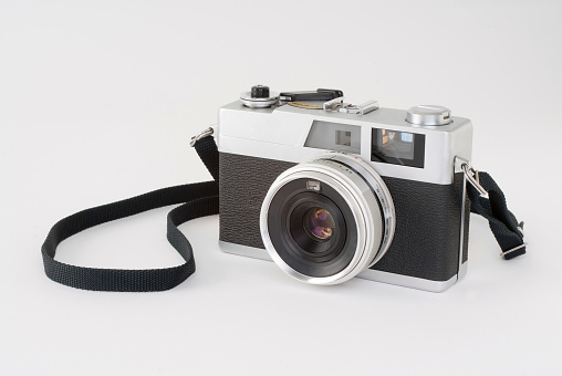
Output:
<path fill-rule="evenodd" d="M 523 222 L 491 176 L 470 166 L 470 121 L 443 106 L 379 108 L 344 103 L 337 90 L 278 95 L 258 85 L 221 107 L 218 126 L 190 145 L 214 180 L 61 219 L 41 247 L 45 274 L 84 290 L 173 289 L 196 269 L 178 226 L 217 213 L 225 252 L 272 260 L 311 284 L 360 276 L 444 291 L 466 274 L 470 212 L 488 220 L 506 260 L 527 252 Z M 85 229 L 177 203 L 167 238 L 179 265 L 97 269 L 54 258 Z"/>

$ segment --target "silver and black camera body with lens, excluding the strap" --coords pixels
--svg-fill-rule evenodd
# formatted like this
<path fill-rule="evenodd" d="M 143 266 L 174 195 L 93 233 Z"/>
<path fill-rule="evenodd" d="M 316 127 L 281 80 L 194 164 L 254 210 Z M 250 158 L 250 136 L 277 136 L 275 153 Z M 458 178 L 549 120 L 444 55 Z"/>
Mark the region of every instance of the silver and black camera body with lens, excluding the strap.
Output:
<path fill-rule="evenodd" d="M 257 85 L 219 109 L 219 243 L 312 284 L 440 292 L 467 271 L 472 125 Z"/>

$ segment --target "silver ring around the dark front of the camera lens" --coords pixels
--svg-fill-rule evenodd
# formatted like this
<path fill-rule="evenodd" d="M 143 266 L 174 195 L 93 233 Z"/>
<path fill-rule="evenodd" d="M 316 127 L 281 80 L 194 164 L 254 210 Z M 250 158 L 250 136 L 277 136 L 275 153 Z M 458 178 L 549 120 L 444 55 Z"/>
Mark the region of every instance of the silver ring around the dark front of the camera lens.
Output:
<path fill-rule="evenodd" d="M 351 261 L 334 274 L 313 276 L 296 271 L 273 246 L 269 229 L 270 205 L 280 189 L 295 180 L 327 185 L 353 213 L 356 247 Z M 376 263 L 388 249 L 394 228 L 394 203 L 381 176 L 361 158 L 342 153 L 326 153 L 281 174 L 271 185 L 260 213 L 261 236 L 271 259 L 287 274 L 311 284 L 342 283 Z M 271 230 L 279 231 L 278 228 Z"/>

